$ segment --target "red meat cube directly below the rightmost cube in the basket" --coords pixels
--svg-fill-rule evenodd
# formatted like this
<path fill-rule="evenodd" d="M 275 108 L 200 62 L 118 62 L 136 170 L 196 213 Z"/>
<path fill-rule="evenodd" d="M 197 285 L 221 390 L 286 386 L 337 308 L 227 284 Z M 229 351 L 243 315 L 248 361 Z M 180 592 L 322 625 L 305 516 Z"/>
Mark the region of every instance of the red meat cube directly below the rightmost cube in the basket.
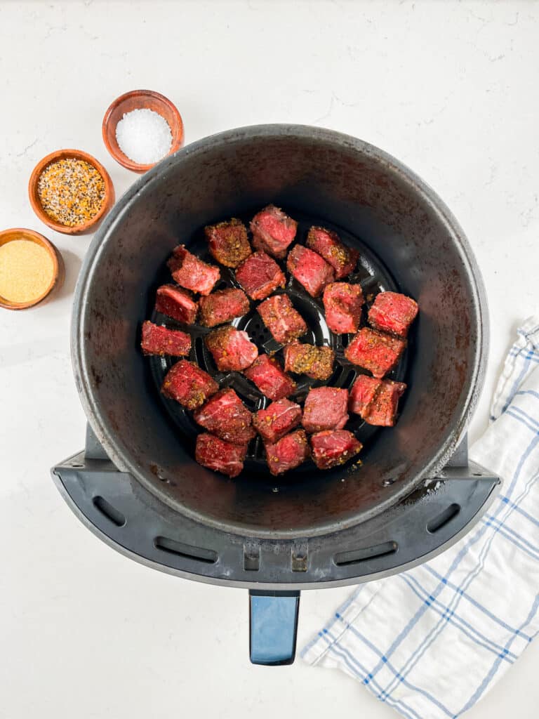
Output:
<path fill-rule="evenodd" d="M 406 343 L 390 334 L 363 327 L 346 347 L 344 354 L 349 362 L 384 377 L 400 359 Z"/>

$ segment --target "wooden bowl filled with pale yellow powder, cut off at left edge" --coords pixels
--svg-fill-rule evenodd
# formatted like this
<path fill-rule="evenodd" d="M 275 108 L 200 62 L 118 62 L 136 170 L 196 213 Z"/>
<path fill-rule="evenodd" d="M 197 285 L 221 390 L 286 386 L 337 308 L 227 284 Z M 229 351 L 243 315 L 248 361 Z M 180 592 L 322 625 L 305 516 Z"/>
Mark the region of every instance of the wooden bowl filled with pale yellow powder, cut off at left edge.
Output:
<path fill-rule="evenodd" d="M 46 237 L 22 227 L 0 232 L 0 307 L 34 307 L 60 289 L 63 280 L 62 255 Z"/>

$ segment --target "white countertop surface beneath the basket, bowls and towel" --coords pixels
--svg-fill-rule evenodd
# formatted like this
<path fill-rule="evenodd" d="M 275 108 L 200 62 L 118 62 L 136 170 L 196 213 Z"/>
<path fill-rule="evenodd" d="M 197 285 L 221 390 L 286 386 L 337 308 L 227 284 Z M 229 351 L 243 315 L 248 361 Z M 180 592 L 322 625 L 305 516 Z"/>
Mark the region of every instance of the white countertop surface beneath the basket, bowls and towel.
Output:
<path fill-rule="evenodd" d="M 538 33 L 539 5 L 516 1 L 0 0 L 0 229 L 44 232 L 67 269 L 55 302 L 0 310 L 0 717 L 396 716 L 338 672 L 300 659 L 251 666 L 246 591 L 129 562 L 60 498 L 49 467 L 84 438 L 68 327 L 91 238 L 32 214 L 35 162 L 87 150 L 121 195 L 136 176 L 107 154 L 101 119 L 134 88 L 178 105 L 187 142 L 298 122 L 391 152 L 451 207 L 487 284 L 492 343 L 473 439 L 512 329 L 538 311 Z M 303 592 L 298 647 L 349 592 Z M 536 717 L 538 660 L 539 644 L 469 718 Z"/>

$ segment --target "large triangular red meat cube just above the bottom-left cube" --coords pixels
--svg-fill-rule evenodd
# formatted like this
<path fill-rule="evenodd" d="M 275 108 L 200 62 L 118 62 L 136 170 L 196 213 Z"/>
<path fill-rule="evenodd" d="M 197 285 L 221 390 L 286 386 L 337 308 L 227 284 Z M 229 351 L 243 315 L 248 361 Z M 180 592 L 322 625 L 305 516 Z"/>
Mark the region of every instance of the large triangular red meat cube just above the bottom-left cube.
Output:
<path fill-rule="evenodd" d="M 231 388 L 214 394 L 193 418 L 208 432 L 232 444 L 247 444 L 256 434 L 252 414 Z"/>

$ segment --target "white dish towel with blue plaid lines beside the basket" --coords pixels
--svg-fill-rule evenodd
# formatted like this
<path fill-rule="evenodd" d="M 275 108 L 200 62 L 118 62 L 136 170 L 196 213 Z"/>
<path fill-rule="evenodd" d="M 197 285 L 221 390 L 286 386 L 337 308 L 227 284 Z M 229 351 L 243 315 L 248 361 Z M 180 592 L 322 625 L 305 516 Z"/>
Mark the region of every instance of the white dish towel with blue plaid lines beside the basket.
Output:
<path fill-rule="evenodd" d="M 408 719 L 459 717 L 539 631 L 539 318 L 517 331 L 490 420 L 470 456 L 503 485 L 471 533 L 361 585 L 302 651 Z"/>

